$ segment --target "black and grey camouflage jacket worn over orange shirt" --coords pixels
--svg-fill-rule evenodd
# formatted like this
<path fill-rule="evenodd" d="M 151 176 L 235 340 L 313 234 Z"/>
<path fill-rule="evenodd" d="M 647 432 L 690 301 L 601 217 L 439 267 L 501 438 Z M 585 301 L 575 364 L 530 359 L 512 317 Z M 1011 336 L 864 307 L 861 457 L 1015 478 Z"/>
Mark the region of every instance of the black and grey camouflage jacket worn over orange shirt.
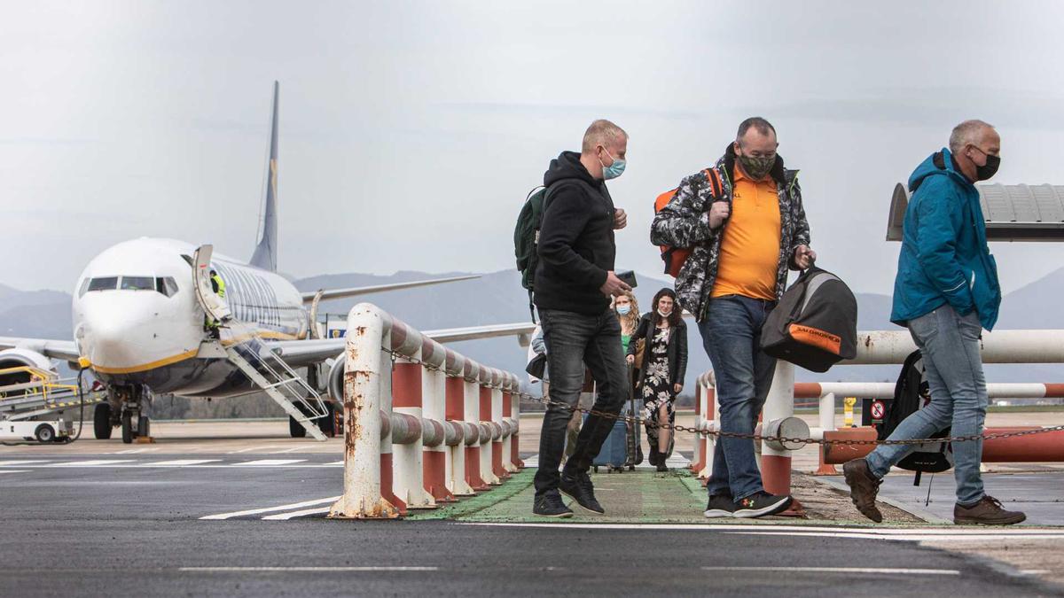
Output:
<path fill-rule="evenodd" d="M 654 245 L 692 248 L 691 256 L 680 268 L 676 278 L 676 295 L 688 312 L 701 321 L 709 302 L 713 283 L 717 277 L 720 260 L 720 240 L 728 220 L 717 228 L 710 228 L 710 205 L 713 201 L 725 201 L 731 205 L 732 172 L 735 168 L 735 152 L 731 145 L 725 155 L 717 161 L 720 175 L 721 197 L 714 198 L 705 171 L 685 178 L 677 187 L 676 195 L 667 205 L 654 216 L 650 226 L 650 242 Z M 786 170 L 783 159 L 778 157 L 771 171 L 776 180 L 780 199 L 780 260 L 776 275 L 776 297 L 779 299 L 786 288 L 787 269 L 797 269 L 794 264 L 795 249 L 809 245 L 809 222 L 801 202 L 801 187 L 798 186 L 798 171 Z"/>

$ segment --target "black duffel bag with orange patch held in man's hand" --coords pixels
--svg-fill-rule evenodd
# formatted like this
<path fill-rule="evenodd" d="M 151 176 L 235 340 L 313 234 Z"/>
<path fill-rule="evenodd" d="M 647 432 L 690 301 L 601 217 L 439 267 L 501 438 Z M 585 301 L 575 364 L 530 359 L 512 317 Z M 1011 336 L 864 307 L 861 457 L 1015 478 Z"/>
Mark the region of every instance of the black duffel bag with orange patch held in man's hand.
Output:
<path fill-rule="evenodd" d="M 761 329 L 761 349 L 812 371 L 828 371 L 858 349 L 858 300 L 835 275 L 803 271 Z"/>

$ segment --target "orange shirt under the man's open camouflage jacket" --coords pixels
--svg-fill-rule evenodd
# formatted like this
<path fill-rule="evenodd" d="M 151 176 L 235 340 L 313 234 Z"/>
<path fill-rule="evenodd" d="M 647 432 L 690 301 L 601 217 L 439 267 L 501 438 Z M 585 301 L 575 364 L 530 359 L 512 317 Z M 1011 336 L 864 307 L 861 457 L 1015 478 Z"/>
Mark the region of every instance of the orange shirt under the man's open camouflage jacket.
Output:
<path fill-rule="evenodd" d="M 732 207 L 720 240 L 720 263 L 710 297 L 776 299 L 780 260 L 780 200 L 776 181 L 751 181 L 736 165 Z"/>

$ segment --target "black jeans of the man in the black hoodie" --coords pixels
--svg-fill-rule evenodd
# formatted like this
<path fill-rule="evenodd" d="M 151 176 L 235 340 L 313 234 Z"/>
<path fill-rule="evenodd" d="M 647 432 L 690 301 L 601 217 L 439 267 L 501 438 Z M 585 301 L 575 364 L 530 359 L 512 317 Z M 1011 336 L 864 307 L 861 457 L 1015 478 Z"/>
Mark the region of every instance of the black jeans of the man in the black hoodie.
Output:
<path fill-rule="evenodd" d="M 547 370 L 550 371 L 550 398 L 576 406 L 584 385 L 584 364 L 595 379 L 598 394 L 593 409 L 620 413 L 628 398 L 628 373 L 620 345 L 620 322 L 611 310 L 587 316 L 560 310 L 541 310 L 543 338 L 547 344 Z M 535 472 L 535 492 L 542 495 L 556 489 L 558 467 L 565 450 L 565 427 L 572 416 L 569 408 L 550 404 L 543 417 L 539 435 L 539 468 Z M 613 429 L 614 419 L 591 415 L 577 436 L 576 450 L 565 464 L 566 470 L 586 471 L 602 443 Z"/>

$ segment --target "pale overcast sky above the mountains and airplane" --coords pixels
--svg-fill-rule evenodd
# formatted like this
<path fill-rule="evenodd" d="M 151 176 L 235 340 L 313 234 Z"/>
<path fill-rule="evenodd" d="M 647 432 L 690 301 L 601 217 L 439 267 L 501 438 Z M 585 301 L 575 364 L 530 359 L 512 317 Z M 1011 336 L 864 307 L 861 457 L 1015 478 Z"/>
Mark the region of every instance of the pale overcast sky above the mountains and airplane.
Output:
<path fill-rule="evenodd" d="M 281 82 L 280 268 L 513 266 L 587 123 L 631 135 L 618 267 L 744 117 L 801 169 L 819 265 L 890 293 L 895 183 L 978 117 L 1002 183 L 1064 184 L 1060 2 L 0 2 L 0 283 L 69 290 L 115 243 L 250 256 Z M 994 244 L 1005 290 L 1064 246 Z"/>

